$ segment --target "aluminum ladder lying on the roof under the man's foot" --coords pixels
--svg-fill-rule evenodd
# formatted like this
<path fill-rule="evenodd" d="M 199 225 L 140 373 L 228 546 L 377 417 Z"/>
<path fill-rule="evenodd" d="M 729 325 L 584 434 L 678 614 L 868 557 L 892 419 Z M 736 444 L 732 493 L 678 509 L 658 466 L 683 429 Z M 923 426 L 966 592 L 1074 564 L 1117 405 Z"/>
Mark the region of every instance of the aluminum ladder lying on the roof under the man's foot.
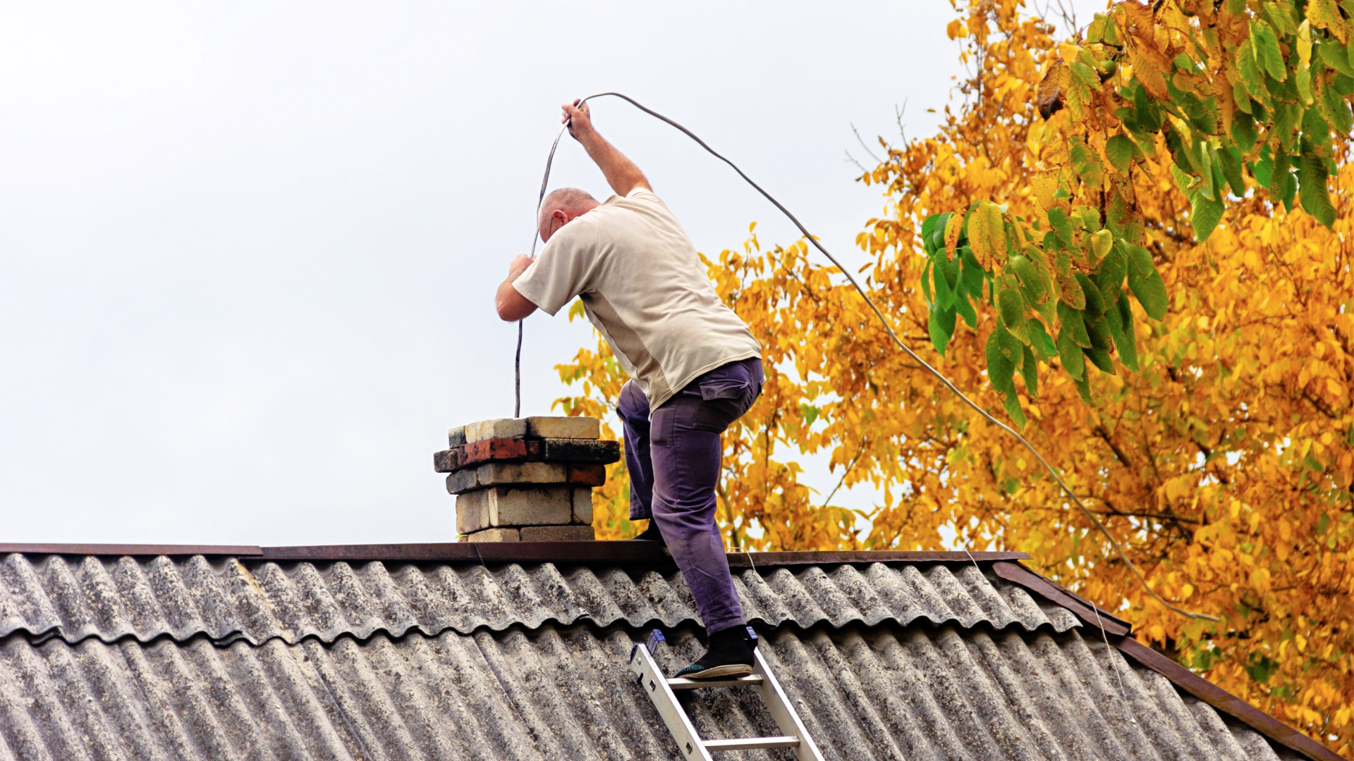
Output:
<path fill-rule="evenodd" d="M 747 627 L 747 634 L 753 642 L 757 632 Z M 818 753 L 818 746 L 808 737 L 804 723 L 799 720 L 799 714 L 791 707 L 785 693 L 780 689 L 776 677 L 766 668 L 766 661 L 761 650 L 753 650 L 757 661 L 753 664 L 753 673 L 746 677 L 733 678 L 668 678 L 663 676 L 654 653 L 658 645 L 666 642 L 663 634 L 657 628 L 649 634 L 649 640 L 636 643 L 630 651 L 630 672 L 635 674 L 649 699 L 658 708 L 658 715 L 668 724 L 668 731 L 677 741 L 677 747 L 684 753 L 682 758 L 699 758 L 700 761 L 714 761 L 712 750 L 754 750 L 761 747 L 792 747 L 798 761 L 823 761 Z M 678 689 L 696 689 L 701 687 L 756 687 L 761 693 L 762 703 L 774 719 L 776 726 L 783 733 L 780 737 L 749 737 L 738 739 L 701 739 L 696 727 L 691 723 L 686 711 L 677 703 Z"/>

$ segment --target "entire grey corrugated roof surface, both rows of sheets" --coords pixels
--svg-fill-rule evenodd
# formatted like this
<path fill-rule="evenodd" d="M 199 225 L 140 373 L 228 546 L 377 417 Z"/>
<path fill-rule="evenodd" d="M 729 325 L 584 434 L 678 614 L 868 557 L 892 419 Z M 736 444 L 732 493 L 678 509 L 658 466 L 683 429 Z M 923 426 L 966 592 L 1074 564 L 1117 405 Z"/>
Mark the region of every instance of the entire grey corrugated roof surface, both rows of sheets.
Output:
<path fill-rule="evenodd" d="M 670 566 L 408 557 L 0 557 L 0 761 L 681 758 L 627 670 L 653 626 L 701 651 Z M 873 557 L 735 569 L 826 758 L 1335 758 L 1017 563 Z M 749 688 L 688 708 L 777 734 Z"/>

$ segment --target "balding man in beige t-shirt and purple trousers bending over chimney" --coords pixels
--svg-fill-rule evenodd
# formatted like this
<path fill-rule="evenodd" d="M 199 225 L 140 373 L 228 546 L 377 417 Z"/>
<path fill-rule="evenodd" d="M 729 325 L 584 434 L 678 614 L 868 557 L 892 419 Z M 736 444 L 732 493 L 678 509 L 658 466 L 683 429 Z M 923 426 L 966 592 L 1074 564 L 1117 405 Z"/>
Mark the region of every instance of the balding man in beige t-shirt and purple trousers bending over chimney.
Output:
<path fill-rule="evenodd" d="M 498 286 L 502 320 L 538 307 L 555 314 L 574 297 L 631 380 L 620 391 L 630 469 L 630 517 L 651 519 L 640 539 L 666 543 L 709 650 L 677 676 L 751 672 L 753 645 L 715 527 L 720 433 L 761 394 L 761 345 L 715 294 L 696 248 L 639 167 L 593 129 L 588 104 L 563 106 L 569 134 L 616 195 L 605 203 L 561 188 L 540 206 L 532 260 L 513 259 Z"/>

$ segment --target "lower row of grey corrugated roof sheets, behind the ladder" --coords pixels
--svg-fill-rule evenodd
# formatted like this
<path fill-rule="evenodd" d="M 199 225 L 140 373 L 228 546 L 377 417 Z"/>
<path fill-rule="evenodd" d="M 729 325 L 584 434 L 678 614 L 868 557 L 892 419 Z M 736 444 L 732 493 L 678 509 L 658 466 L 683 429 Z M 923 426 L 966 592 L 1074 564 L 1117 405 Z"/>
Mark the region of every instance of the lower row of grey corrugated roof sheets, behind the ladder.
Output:
<path fill-rule="evenodd" d="M 672 664 L 700 653 L 695 631 L 670 632 Z M 0 761 L 678 758 L 628 678 L 639 636 L 590 624 L 225 647 L 9 636 Z M 785 627 L 764 653 L 835 761 L 1297 758 L 1079 630 Z M 697 692 L 705 737 L 774 734 L 747 688 Z"/>

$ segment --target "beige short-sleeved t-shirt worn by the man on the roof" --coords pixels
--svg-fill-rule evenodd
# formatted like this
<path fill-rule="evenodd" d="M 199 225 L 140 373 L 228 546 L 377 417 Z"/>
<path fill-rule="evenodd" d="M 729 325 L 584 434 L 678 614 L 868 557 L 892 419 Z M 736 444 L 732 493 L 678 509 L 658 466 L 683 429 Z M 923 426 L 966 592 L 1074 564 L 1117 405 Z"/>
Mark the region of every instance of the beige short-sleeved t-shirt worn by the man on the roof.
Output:
<path fill-rule="evenodd" d="M 681 223 L 646 188 L 613 195 L 556 230 L 513 287 L 550 314 L 580 297 L 649 409 L 703 372 L 761 356 Z"/>

